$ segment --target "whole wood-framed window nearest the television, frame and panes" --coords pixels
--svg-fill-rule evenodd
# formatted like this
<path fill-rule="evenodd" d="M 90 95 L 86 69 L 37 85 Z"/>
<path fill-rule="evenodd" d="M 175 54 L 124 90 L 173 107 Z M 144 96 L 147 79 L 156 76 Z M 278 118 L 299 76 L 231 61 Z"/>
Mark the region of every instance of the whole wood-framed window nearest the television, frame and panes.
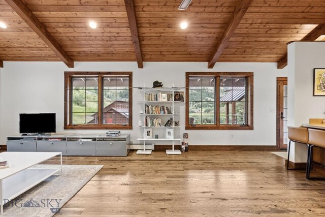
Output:
<path fill-rule="evenodd" d="M 64 72 L 64 129 L 132 129 L 132 72 Z"/>

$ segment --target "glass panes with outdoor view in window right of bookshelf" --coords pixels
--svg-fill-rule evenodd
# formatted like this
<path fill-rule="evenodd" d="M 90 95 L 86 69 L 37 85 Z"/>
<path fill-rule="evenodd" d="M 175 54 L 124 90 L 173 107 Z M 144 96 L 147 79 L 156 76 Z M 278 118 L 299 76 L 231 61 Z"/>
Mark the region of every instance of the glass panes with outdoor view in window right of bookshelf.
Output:
<path fill-rule="evenodd" d="M 220 77 L 216 87 L 216 77 L 189 77 L 190 125 L 215 125 L 216 116 L 220 125 L 246 125 L 246 78 Z M 219 91 L 219 108 L 215 95 Z"/>

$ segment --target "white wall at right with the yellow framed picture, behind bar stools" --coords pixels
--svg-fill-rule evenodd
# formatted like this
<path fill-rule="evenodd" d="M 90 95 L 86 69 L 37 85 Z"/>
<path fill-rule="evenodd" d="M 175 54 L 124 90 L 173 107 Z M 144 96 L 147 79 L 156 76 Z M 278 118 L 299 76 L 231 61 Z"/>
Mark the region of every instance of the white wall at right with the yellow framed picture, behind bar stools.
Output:
<path fill-rule="evenodd" d="M 325 68 L 324 56 L 325 42 L 288 45 L 288 126 L 299 127 L 309 118 L 325 118 L 325 97 L 313 97 L 313 70 Z M 306 162 L 306 145 L 294 145 L 291 154 L 290 161 Z"/>

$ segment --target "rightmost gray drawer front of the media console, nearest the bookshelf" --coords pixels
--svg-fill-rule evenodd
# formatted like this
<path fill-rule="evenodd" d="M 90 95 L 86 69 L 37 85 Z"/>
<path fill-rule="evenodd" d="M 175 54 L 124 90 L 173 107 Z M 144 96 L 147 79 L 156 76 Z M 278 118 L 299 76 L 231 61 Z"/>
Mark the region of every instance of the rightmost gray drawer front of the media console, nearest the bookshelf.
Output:
<path fill-rule="evenodd" d="M 98 156 L 126 156 L 126 142 L 97 141 L 96 155 Z"/>

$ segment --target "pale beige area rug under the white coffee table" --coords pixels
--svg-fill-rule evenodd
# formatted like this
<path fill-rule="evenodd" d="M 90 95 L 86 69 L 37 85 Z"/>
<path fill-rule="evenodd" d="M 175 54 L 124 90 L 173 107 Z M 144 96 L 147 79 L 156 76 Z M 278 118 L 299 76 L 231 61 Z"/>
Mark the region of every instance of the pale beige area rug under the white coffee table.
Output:
<path fill-rule="evenodd" d="M 60 165 L 34 167 L 60 168 Z M 6 203 L 3 216 L 53 216 L 102 168 L 102 165 L 63 165 L 61 175 L 52 175 Z"/>

